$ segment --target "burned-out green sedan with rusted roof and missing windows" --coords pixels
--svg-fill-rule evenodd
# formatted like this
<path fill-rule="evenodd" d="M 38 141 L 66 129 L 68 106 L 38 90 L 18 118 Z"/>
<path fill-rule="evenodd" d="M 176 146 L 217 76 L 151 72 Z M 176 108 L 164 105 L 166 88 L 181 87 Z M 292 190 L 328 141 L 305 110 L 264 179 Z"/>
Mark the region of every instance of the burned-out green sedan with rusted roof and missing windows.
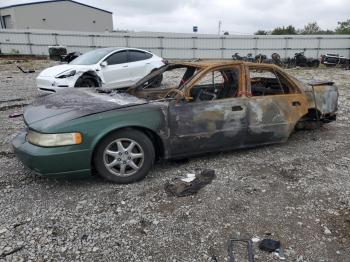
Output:
<path fill-rule="evenodd" d="M 163 75 L 160 87 L 149 88 Z M 24 111 L 16 156 L 43 175 L 144 178 L 159 159 L 285 142 L 296 128 L 336 119 L 332 82 L 304 84 L 243 61 L 170 63 L 125 91 L 73 89 Z"/>

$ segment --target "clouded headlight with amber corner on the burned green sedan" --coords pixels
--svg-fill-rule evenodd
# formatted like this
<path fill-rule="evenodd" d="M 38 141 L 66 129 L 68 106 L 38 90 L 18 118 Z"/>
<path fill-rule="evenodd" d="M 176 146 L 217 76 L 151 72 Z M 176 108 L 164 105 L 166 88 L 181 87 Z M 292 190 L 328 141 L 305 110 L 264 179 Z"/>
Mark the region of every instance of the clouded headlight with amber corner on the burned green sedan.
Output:
<path fill-rule="evenodd" d="M 43 134 L 29 130 L 27 141 L 33 145 L 43 147 L 79 145 L 83 141 L 80 133 L 60 133 L 60 134 Z"/>

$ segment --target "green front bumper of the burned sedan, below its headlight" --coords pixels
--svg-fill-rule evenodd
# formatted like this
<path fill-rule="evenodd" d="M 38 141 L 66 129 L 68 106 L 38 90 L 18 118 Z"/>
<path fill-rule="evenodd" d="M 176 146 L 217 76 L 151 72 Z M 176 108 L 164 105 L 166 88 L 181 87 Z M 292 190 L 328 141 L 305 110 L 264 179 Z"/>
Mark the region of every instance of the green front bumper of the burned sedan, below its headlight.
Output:
<path fill-rule="evenodd" d="M 16 157 L 35 173 L 45 176 L 91 174 L 91 150 L 73 150 L 74 146 L 39 147 L 26 141 L 26 131 L 13 140 Z"/>

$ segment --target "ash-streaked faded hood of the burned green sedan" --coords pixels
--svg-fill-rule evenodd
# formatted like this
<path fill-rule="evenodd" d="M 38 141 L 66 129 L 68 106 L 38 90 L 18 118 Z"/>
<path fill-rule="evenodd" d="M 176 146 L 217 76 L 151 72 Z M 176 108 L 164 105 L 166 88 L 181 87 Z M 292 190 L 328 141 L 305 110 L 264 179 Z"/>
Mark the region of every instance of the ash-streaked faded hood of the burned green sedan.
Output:
<path fill-rule="evenodd" d="M 45 122 L 56 125 L 75 118 L 104 111 L 148 103 L 144 99 L 126 93 L 98 93 L 89 88 L 72 88 L 42 96 L 24 110 L 25 123 L 30 126 Z"/>

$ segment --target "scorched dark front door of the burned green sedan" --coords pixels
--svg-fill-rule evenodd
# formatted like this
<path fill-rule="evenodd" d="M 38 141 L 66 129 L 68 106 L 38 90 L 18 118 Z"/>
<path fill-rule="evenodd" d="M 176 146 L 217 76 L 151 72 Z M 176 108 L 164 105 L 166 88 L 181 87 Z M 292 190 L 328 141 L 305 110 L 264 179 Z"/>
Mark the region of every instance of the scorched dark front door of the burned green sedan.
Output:
<path fill-rule="evenodd" d="M 215 75 L 216 71 L 208 74 L 212 73 Z M 198 80 L 199 83 L 194 84 L 192 90 L 209 90 L 211 84 L 218 88 L 229 87 L 225 79 L 213 77 L 208 84 L 206 78 L 207 74 Z M 240 81 L 236 81 L 239 88 Z M 242 147 L 247 129 L 247 98 L 237 97 L 238 93 L 239 90 L 235 92 L 235 96 L 221 99 L 219 96 L 211 99 L 205 93 L 208 100 L 170 103 L 171 154 L 176 157 Z"/>

